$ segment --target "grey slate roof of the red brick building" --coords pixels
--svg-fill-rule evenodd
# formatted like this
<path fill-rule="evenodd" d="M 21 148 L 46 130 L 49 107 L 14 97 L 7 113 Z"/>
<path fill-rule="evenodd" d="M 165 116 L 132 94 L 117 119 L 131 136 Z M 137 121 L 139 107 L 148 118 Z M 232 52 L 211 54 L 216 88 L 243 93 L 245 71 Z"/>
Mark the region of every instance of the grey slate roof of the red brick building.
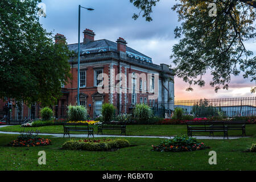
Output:
<path fill-rule="evenodd" d="M 71 51 L 77 52 L 78 44 L 69 44 L 68 48 Z M 81 54 L 85 53 L 94 53 L 94 52 L 105 52 L 105 51 L 117 51 L 117 43 L 112 42 L 110 40 L 101 39 L 101 40 L 94 40 L 88 42 L 86 44 L 80 43 L 80 52 Z M 129 57 L 134 57 L 135 59 L 147 61 L 148 63 L 152 63 L 151 57 L 143 55 L 143 53 L 134 50 L 126 46 L 126 54 Z"/>

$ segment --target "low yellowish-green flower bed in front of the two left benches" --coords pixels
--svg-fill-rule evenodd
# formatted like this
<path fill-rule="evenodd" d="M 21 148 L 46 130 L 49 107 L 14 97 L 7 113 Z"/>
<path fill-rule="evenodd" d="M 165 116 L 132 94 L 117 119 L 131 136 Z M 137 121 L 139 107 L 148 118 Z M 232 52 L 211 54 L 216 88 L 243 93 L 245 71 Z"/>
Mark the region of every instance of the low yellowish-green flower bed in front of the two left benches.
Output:
<path fill-rule="evenodd" d="M 84 139 L 69 140 L 63 144 L 62 148 L 67 150 L 109 151 L 129 146 L 129 141 L 125 139 Z"/>

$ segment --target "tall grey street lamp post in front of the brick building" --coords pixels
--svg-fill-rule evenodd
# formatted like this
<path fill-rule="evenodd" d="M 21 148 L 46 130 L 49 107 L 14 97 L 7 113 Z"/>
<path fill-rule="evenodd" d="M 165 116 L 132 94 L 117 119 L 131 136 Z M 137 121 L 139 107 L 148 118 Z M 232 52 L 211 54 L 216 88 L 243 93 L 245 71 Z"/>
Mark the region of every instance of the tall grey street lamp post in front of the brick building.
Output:
<path fill-rule="evenodd" d="M 78 39 L 79 39 L 79 42 L 78 42 L 78 60 L 77 60 L 77 105 L 80 105 L 80 101 L 79 101 L 79 97 L 80 97 L 80 94 L 79 94 L 79 88 L 80 88 L 80 13 L 81 13 L 81 5 L 79 5 L 79 36 L 78 36 Z M 82 7 L 86 10 L 89 10 L 89 11 L 93 11 L 94 9 L 92 8 L 86 8 L 86 7 Z"/>

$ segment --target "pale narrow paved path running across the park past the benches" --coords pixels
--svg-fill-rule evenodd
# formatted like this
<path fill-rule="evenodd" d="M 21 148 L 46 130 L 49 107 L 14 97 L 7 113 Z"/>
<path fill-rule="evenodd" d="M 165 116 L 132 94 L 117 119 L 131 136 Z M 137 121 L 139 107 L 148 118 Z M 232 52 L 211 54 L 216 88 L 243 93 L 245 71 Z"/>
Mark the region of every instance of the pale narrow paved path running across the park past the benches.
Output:
<path fill-rule="evenodd" d="M 5 126 L 0 126 L 5 127 Z M 0 131 L 0 134 L 19 134 L 18 132 L 7 132 L 7 131 Z M 50 133 L 40 133 L 39 135 L 48 135 L 52 137 L 63 137 L 63 134 L 50 134 Z M 73 138 L 87 138 L 87 134 L 70 134 L 70 137 Z M 68 137 L 65 135 L 65 138 Z M 174 138 L 174 136 L 171 137 L 163 137 L 163 136 L 129 136 L 129 135 L 94 135 L 94 137 L 129 137 L 129 138 Z M 223 139 L 223 137 L 208 137 L 208 136 L 193 136 L 196 139 Z M 90 136 L 92 138 L 92 136 Z M 241 137 L 229 137 L 229 139 L 237 139 Z M 243 137 L 244 138 L 244 137 Z"/>

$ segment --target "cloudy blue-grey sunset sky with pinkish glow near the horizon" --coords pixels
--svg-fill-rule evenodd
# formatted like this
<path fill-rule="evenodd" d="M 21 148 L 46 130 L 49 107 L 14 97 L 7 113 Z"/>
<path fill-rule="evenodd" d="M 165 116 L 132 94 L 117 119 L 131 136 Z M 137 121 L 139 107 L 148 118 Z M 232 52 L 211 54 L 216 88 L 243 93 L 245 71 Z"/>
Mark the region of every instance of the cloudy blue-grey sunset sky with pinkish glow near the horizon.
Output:
<path fill-rule="evenodd" d="M 152 22 L 144 18 L 132 18 L 139 10 L 129 0 L 42 0 L 46 5 L 46 18 L 40 23 L 48 32 L 63 34 L 68 44 L 77 43 L 78 6 L 90 7 L 94 11 L 81 9 L 81 41 L 85 28 L 93 30 L 95 39 L 108 39 L 115 42 L 119 37 L 126 40 L 127 46 L 152 58 L 154 64 L 172 64 L 172 46 L 179 42 L 174 37 L 174 28 L 180 25 L 177 13 L 171 10 L 174 0 L 161 0 L 153 9 Z M 245 46 L 256 55 L 256 40 L 246 42 Z M 175 100 L 200 98 L 251 97 L 250 88 L 255 86 L 250 78 L 232 77 L 228 90 L 218 90 L 209 86 L 211 76 L 204 76 L 205 86 L 193 86 L 193 92 L 185 91 L 188 84 L 175 77 Z"/>

